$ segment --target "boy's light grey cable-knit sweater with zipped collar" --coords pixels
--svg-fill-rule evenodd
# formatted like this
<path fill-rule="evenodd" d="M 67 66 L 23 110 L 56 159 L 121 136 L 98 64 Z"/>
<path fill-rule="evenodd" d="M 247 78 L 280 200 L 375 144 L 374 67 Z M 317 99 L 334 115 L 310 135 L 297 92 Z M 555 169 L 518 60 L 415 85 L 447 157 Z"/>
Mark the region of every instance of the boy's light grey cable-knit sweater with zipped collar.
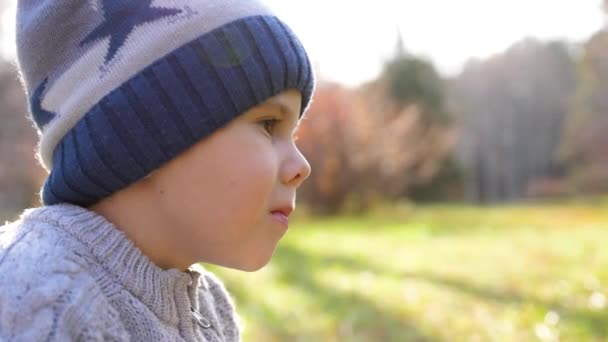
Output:
<path fill-rule="evenodd" d="M 237 341 L 223 284 L 163 270 L 104 217 L 59 204 L 0 227 L 0 341 Z"/>

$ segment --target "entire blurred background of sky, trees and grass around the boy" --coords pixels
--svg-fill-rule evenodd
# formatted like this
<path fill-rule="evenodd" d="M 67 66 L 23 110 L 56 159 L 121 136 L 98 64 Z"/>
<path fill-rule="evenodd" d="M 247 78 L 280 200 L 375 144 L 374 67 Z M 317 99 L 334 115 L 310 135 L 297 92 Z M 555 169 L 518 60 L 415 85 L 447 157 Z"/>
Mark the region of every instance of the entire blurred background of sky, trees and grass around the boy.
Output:
<path fill-rule="evenodd" d="M 318 77 L 251 341 L 607 341 L 608 1 L 267 0 Z M 0 219 L 45 173 L 0 3 Z M 260 287 L 264 291 L 260 291 Z"/>

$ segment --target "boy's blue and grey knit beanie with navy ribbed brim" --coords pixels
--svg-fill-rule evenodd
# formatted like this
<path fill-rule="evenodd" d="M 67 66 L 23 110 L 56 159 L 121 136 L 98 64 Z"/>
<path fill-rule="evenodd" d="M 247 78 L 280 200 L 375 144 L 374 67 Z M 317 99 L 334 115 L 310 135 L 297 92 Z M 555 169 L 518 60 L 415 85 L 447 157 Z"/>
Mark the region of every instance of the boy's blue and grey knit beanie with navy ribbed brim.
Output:
<path fill-rule="evenodd" d="M 314 76 L 258 0 L 19 0 L 18 63 L 50 172 L 42 203 L 89 206 Z"/>

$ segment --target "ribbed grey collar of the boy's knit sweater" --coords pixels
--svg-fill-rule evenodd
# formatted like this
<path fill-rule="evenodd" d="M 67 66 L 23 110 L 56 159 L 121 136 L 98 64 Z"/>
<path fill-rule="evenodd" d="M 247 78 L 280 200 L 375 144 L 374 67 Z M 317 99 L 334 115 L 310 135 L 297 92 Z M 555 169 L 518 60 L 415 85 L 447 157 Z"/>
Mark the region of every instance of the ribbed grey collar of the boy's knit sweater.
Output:
<path fill-rule="evenodd" d="M 191 288 L 208 289 L 202 267 L 194 265 L 186 272 L 161 269 L 123 231 L 86 208 L 63 203 L 27 209 L 21 219 L 46 222 L 67 232 L 91 252 L 93 261 L 115 282 L 171 325 L 179 323 L 179 312 L 198 308 L 198 291 Z"/>

